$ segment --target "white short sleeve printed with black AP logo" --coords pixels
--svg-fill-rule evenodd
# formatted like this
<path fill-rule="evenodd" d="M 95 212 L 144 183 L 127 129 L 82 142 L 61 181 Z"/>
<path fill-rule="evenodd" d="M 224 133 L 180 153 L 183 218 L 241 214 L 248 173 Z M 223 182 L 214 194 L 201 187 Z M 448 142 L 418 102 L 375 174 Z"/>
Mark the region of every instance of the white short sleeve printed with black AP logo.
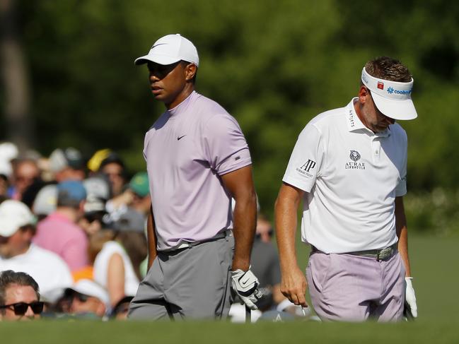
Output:
<path fill-rule="evenodd" d="M 323 161 L 322 136 L 313 124 L 308 124 L 298 136 L 283 182 L 310 192 Z"/>

